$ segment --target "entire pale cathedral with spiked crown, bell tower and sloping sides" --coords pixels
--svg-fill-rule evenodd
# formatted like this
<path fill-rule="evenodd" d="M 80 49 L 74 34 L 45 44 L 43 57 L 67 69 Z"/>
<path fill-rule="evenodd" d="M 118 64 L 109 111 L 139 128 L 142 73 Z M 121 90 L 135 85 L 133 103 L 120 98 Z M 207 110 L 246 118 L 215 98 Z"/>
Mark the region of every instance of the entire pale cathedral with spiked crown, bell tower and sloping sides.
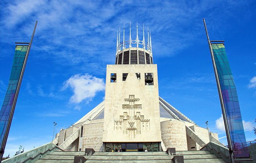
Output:
<path fill-rule="evenodd" d="M 131 27 L 130 27 L 131 31 Z M 151 34 L 128 41 L 117 32 L 115 64 L 107 65 L 105 100 L 71 127 L 56 134 L 53 143 L 65 151 L 178 151 L 200 150 L 218 135 L 159 96 L 157 64 Z M 122 37 L 121 37 L 122 38 Z"/>

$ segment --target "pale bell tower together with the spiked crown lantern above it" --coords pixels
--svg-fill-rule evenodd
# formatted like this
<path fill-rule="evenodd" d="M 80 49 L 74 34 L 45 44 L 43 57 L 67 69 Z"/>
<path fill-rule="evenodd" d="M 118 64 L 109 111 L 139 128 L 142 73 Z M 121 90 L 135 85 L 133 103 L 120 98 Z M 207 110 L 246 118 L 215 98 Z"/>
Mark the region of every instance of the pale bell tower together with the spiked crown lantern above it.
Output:
<path fill-rule="evenodd" d="M 130 27 L 131 31 L 131 27 Z M 151 143 L 161 149 L 157 65 L 153 64 L 151 34 L 120 41 L 117 32 L 116 62 L 107 65 L 102 142 L 126 151 L 143 150 Z M 146 43 L 147 42 L 147 43 Z M 135 47 L 133 47 L 135 46 Z M 137 144 L 137 148 L 136 147 Z"/>

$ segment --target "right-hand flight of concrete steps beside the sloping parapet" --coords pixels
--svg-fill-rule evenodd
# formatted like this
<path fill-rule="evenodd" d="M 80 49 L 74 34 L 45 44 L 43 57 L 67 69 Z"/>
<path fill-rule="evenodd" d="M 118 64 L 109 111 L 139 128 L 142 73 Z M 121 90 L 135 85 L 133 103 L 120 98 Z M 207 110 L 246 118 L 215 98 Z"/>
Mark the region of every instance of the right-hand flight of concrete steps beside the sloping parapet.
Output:
<path fill-rule="evenodd" d="M 211 154 L 208 150 L 176 151 L 176 154 L 183 155 L 184 163 L 227 163 L 215 154 Z"/>

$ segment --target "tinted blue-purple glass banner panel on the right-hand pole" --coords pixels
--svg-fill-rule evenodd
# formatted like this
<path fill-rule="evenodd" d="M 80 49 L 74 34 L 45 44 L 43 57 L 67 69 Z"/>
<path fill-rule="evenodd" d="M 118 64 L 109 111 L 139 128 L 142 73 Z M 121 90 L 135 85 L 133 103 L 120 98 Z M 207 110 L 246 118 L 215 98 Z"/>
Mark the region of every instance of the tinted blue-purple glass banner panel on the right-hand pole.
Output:
<path fill-rule="evenodd" d="M 213 49 L 222 98 L 228 120 L 234 157 L 249 157 L 236 86 L 231 73 L 224 44 L 211 44 L 211 47 Z"/>

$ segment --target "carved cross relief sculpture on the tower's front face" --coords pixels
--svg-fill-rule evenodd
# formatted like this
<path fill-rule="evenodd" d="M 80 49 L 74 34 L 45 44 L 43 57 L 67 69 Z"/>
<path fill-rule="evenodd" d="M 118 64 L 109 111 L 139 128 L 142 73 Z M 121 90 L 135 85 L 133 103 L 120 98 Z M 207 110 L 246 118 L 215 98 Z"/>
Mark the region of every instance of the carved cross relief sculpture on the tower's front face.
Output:
<path fill-rule="evenodd" d="M 122 104 L 123 115 L 119 120 L 114 120 L 114 130 L 123 130 L 123 134 L 128 134 L 130 138 L 135 137 L 136 134 L 141 134 L 142 130 L 150 130 L 150 120 L 145 120 L 143 115 L 140 115 L 141 104 L 135 104 L 139 102 L 139 98 L 135 98 L 135 95 L 129 95 L 129 99 L 124 99 L 129 104 Z M 136 130 L 136 132 L 135 132 Z"/>

